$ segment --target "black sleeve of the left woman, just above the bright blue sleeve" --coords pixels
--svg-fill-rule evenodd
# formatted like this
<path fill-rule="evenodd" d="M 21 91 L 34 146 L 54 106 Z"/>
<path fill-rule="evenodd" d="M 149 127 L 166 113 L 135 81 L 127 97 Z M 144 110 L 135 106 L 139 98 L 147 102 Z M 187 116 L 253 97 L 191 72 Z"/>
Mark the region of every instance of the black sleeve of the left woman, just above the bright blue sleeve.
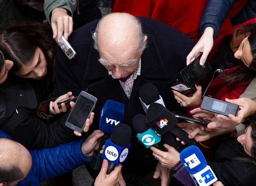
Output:
<path fill-rule="evenodd" d="M 15 120 L 18 119 L 19 122 L 15 126 L 10 127 L 9 125 L 3 130 L 27 149 L 56 147 L 76 138 L 73 130 L 65 126 L 65 120 L 69 112 L 52 124 L 46 124 L 26 108 L 19 108 L 18 112 L 19 114 L 16 116 L 11 116 L 8 124 L 11 125 L 12 119 L 15 117 Z"/>

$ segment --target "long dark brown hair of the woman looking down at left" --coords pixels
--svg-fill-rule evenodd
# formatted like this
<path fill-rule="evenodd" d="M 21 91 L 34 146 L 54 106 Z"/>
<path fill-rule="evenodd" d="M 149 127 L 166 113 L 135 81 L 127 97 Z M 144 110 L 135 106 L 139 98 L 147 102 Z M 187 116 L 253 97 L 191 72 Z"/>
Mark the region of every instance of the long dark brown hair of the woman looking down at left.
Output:
<path fill-rule="evenodd" d="M 0 29 L 0 50 L 5 59 L 14 66 L 10 72 L 17 72 L 23 64 L 29 63 L 39 47 L 45 55 L 48 72 L 52 72 L 54 47 L 52 29 L 48 24 L 24 21 L 11 23 Z"/>

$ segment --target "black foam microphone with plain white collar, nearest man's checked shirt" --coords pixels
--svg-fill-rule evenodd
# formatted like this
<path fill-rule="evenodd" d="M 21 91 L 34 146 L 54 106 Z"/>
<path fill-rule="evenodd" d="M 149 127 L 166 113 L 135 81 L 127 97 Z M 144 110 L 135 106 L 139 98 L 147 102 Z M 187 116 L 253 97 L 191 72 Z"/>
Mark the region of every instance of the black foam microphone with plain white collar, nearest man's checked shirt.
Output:
<path fill-rule="evenodd" d="M 162 97 L 159 95 L 157 87 L 152 83 L 143 84 L 139 90 L 140 102 L 143 110 L 147 113 L 147 109 L 151 103 L 159 103 L 165 107 Z"/>

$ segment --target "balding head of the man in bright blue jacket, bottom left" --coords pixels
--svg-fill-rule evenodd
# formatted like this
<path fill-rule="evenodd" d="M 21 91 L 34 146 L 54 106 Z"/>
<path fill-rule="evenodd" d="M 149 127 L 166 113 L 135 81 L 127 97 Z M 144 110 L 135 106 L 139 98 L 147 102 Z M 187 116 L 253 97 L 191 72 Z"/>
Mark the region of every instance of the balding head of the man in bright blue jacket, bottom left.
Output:
<path fill-rule="evenodd" d="M 0 138 L 0 182 L 11 183 L 23 179 L 31 163 L 31 155 L 24 146 L 11 139 Z"/>

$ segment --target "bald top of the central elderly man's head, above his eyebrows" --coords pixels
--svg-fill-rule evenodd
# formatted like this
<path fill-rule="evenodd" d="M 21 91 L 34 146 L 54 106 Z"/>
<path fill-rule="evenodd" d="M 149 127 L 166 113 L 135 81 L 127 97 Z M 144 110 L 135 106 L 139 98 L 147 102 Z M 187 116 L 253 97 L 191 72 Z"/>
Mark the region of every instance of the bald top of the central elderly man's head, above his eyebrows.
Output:
<path fill-rule="evenodd" d="M 140 20 L 128 13 L 111 13 L 99 20 L 94 33 L 95 48 L 123 52 L 136 48 L 140 53 L 145 48 L 145 35 Z"/>

